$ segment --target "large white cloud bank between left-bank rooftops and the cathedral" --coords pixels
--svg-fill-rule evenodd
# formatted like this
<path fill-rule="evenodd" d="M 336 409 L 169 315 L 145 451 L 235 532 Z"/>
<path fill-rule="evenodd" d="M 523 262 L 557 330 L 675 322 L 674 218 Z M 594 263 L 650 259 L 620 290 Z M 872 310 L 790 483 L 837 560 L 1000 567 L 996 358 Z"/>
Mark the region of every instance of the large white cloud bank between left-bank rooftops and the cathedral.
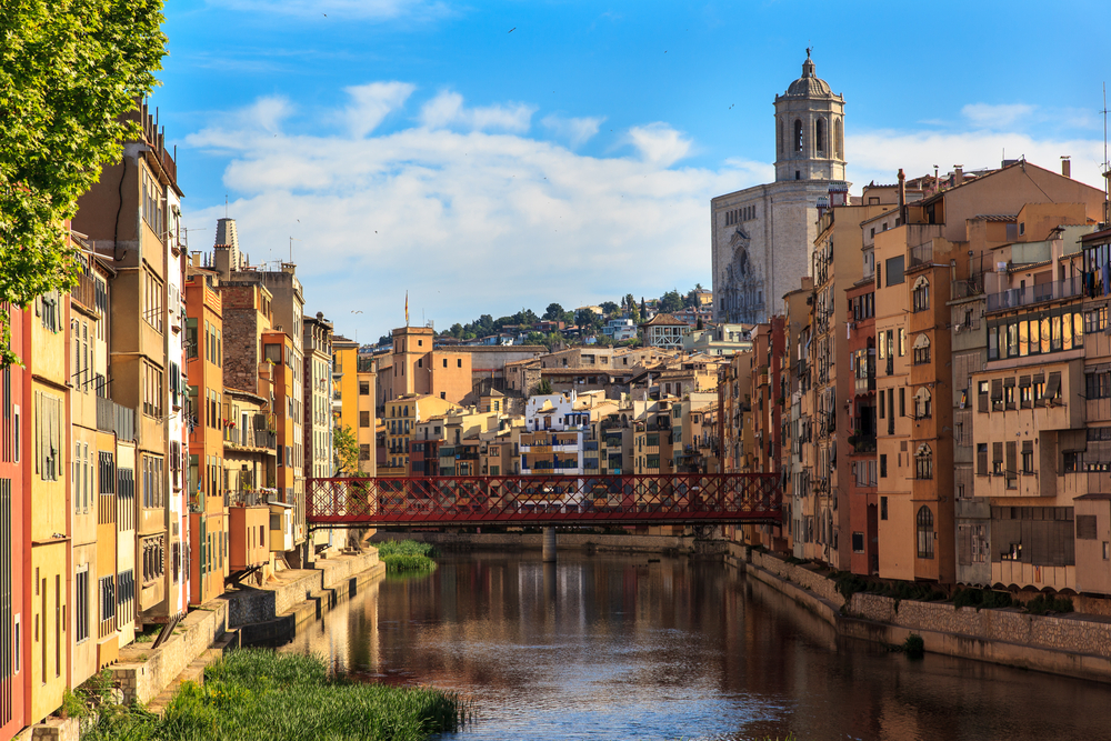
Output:
<path fill-rule="evenodd" d="M 476 121 L 453 96 L 434 99 L 437 120 Z M 513 132 L 417 124 L 361 139 L 274 137 L 226 119 L 240 128 L 186 143 L 230 153 L 223 180 L 240 193 L 230 213 L 243 249 L 259 263 L 300 240 L 308 310 L 360 340 L 404 320 L 407 289 L 413 322 L 423 311 L 442 328 L 552 301 L 708 286 L 709 199 L 767 179 L 768 166 L 749 162 L 671 169 L 690 142 L 662 124 L 642 129 L 652 154 L 599 158 Z M 220 203 L 189 223 L 223 216 Z"/>

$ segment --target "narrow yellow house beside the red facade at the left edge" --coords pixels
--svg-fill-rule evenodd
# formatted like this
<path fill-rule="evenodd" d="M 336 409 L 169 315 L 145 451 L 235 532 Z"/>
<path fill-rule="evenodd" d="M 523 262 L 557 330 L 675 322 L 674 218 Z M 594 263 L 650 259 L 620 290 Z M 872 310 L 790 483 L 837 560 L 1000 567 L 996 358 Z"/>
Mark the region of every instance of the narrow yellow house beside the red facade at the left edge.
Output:
<path fill-rule="evenodd" d="M 31 570 L 29 589 L 24 589 L 24 597 L 30 594 L 23 639 L 30 648 L 27 669 L 31 674 L 27 724 L 57 710 L 70 683 L 69 304 L 68 296 L 51 291 L 37 298 L 22 317 L 22 358 L 28 381 L 23 383 L 22 408 L 30 411 L 21 419 L 20 432 L 22 458 L 27 461 L 23 487 L 30 494 L 30 528 L 29 532 L 24 530 L 30 541 L 26 544 L 30 547 Z"/>

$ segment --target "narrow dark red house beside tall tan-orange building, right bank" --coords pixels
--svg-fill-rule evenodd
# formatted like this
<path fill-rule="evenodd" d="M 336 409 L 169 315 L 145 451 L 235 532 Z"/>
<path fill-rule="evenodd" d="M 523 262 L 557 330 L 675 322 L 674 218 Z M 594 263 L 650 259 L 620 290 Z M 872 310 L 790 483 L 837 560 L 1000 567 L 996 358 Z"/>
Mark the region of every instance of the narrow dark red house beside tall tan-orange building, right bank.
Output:
<path fill-rule="evenodd" d="M 853 375 L 849 404 L 849 531 L 850 570 L 879 573 L 877 547 L 875 458 L 875 282 L 865 277 L 847 290 L 849 354 Z"/>

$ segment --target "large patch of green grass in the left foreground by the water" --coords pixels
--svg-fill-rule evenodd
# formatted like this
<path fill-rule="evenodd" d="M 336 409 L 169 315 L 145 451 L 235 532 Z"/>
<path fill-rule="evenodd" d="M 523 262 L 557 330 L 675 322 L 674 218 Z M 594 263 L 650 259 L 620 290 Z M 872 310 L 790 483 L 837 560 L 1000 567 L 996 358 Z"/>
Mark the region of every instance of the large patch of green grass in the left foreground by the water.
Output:
<path fill-rule="evenodd" d="M 458 695 L 360 683 L 324 661 L 270 650 L 234 651 L 187 682 L 160 719 L 141 707 L 102 712 L 83 741 L 419 741 L 459 730 Z"/>

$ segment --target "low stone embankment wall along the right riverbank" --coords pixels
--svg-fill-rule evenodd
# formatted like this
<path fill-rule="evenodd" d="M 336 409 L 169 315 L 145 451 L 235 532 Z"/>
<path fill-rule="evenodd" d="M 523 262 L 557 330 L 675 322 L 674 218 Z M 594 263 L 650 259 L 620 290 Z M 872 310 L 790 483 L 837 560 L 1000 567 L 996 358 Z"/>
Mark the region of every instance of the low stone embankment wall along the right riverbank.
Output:
<path fill-rule="evenodd" d="M 977 610 L 862 592 L 845 601 L 833 580 L 812 565 L 737 545 L 727 562 L 790 597 L 839 635 L 902 645 L 915 633 L 932 653 L 1111 682 L 1111 620 L 1103 615 L 1033 615 L 1018 608 Z"/>

